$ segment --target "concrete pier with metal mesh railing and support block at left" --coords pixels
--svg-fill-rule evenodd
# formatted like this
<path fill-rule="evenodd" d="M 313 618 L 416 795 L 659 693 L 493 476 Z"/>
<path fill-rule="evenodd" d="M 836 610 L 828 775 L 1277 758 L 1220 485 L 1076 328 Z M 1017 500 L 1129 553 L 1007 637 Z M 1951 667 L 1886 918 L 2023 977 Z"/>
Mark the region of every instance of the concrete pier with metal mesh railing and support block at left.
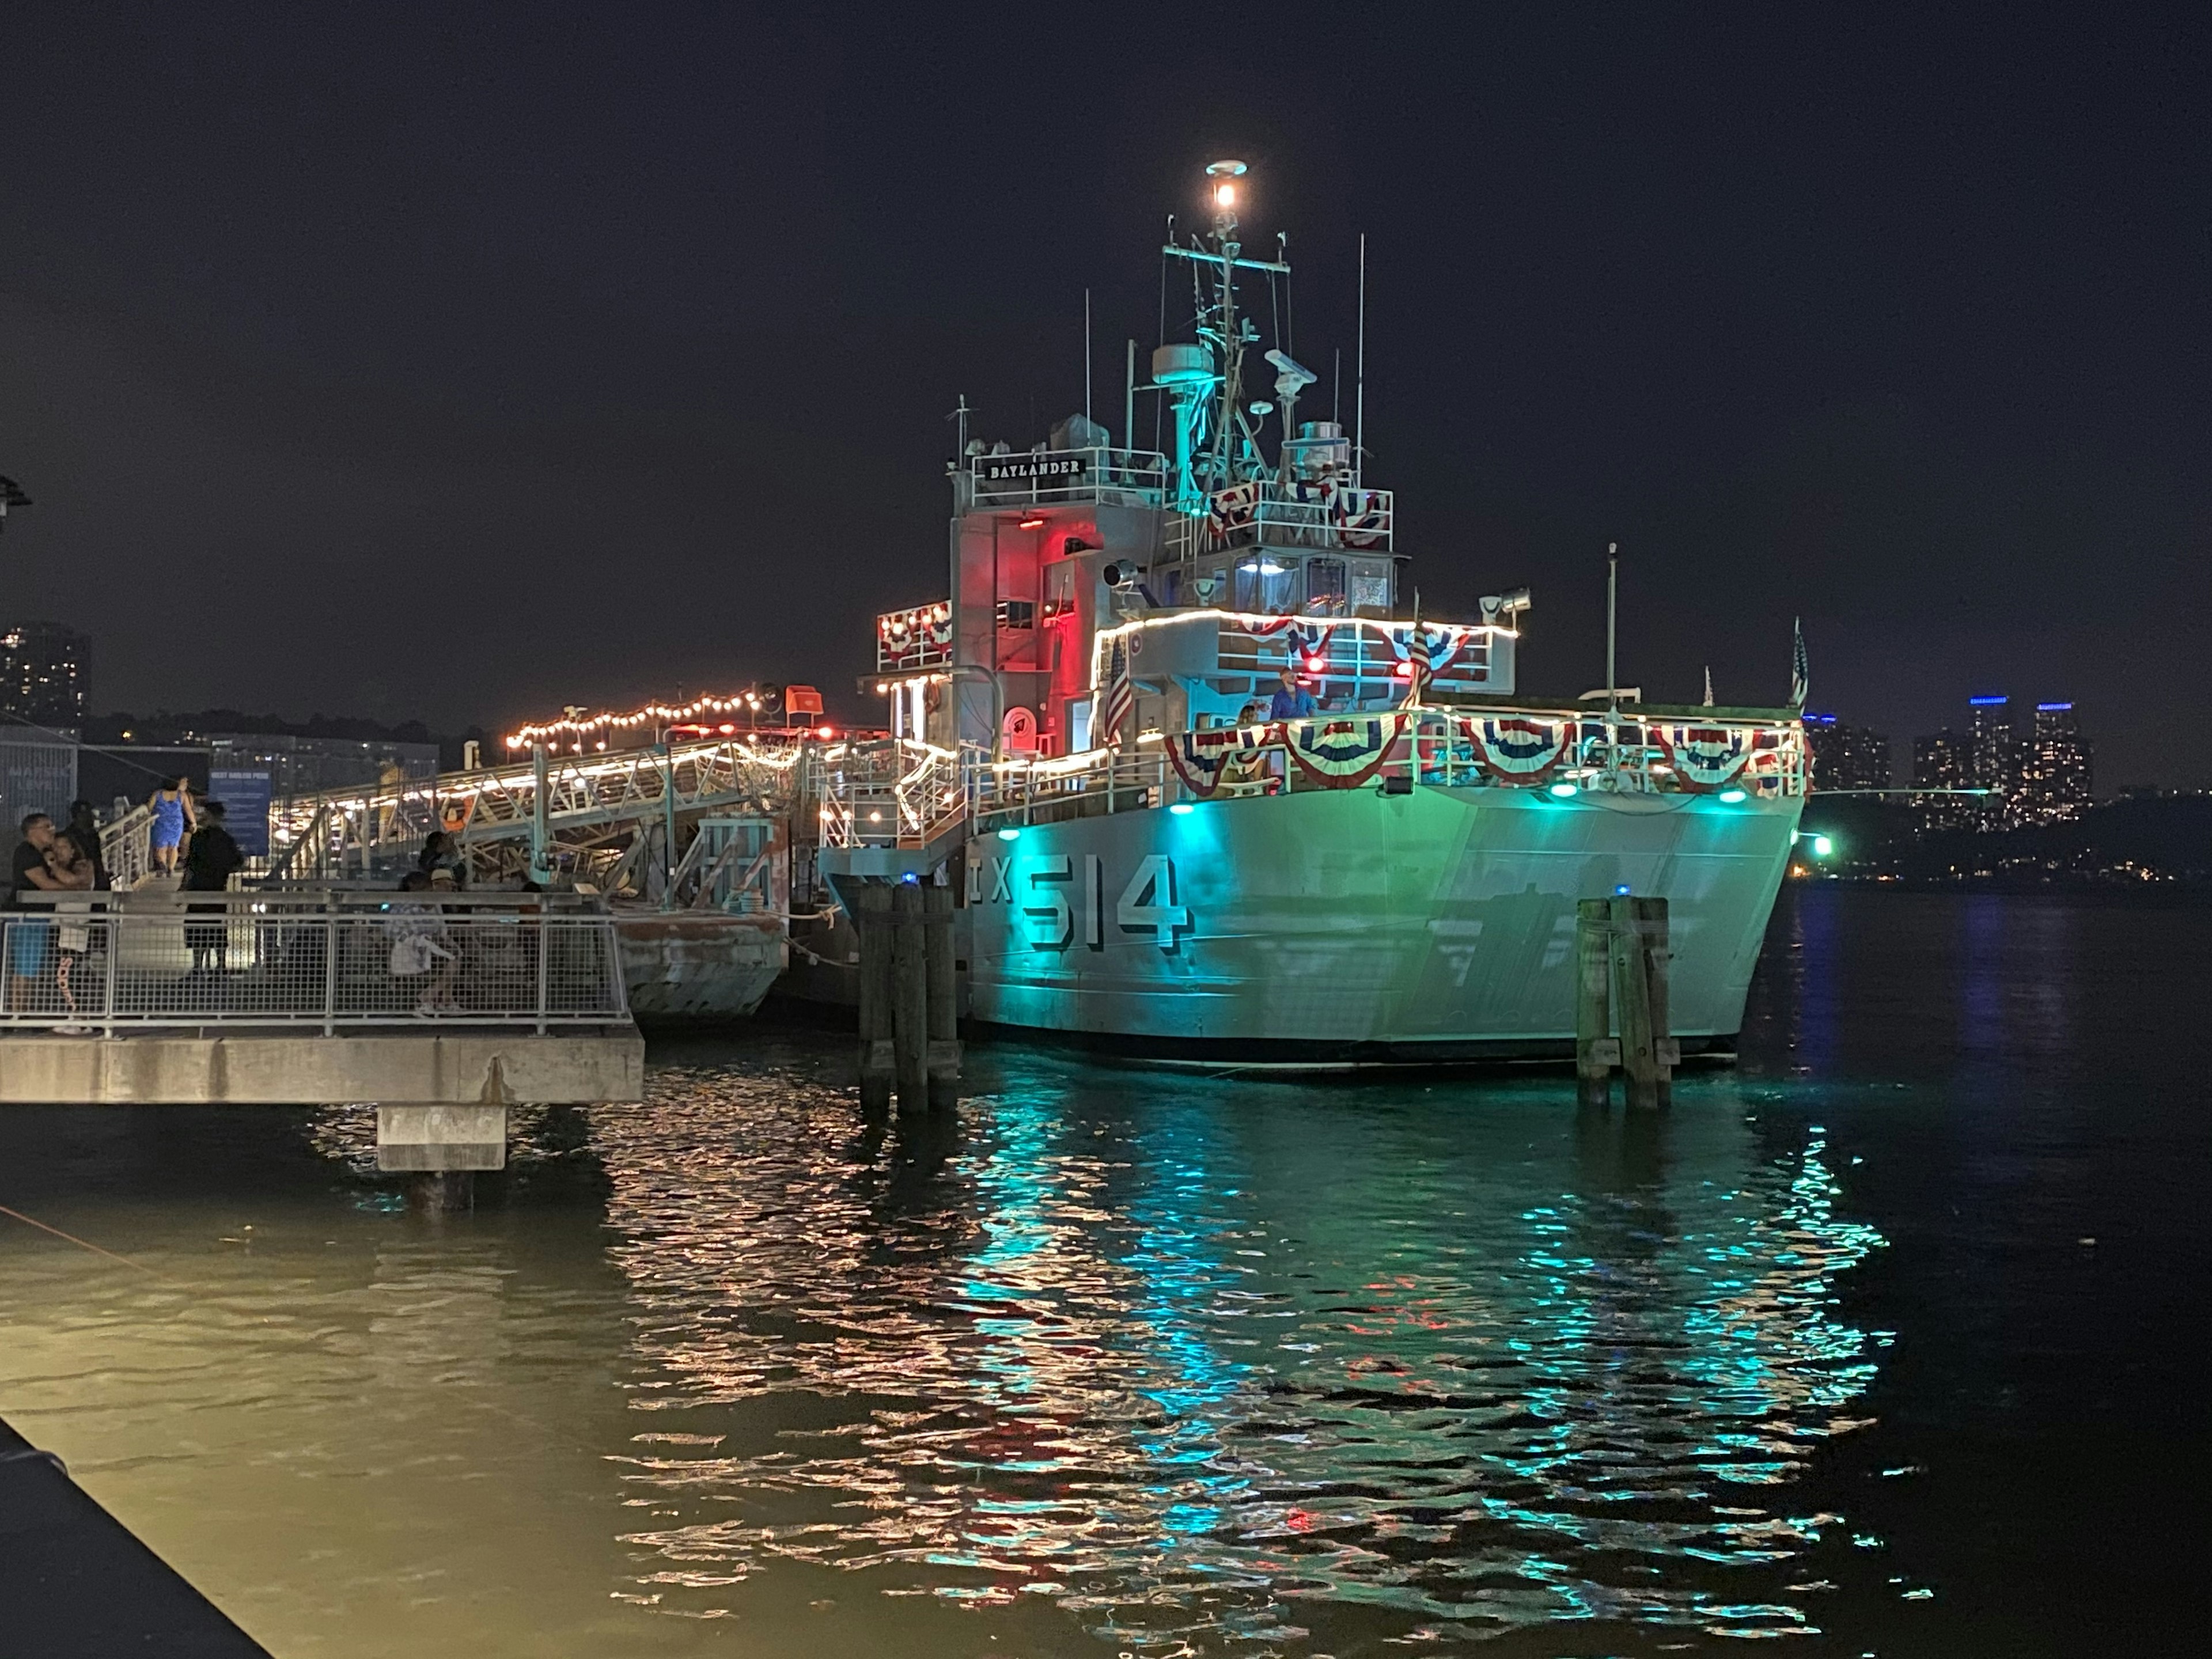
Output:
<path fill-rule="evenodd" d="M 453 1177 L 504 1166 L 509 1106 L 644 1093 L 604 905 L 179 898 L 73 894 L 0 922 L 0 1104 L 376 1104 L 378 1168 L 460 1197 Z"/>

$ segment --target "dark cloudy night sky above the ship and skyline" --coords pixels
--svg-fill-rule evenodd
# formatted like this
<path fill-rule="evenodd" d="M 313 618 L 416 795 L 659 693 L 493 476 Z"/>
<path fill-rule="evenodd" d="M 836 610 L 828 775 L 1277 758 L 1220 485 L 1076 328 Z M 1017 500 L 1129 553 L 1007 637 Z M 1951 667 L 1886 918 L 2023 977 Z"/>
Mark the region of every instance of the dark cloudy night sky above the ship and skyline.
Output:
<path fill-rule="evenodd" d="M 1310 416 L 1369 234 L 1369 482 L 1429 615 L 1535 591 L 1526 690 L 1619 540 L 1655 699 L 1778 701 L 1803 613 L 1900 759 L 2002 690 L 2212 783 L 2212 11 L 1920 13 L 15 7 L 0 617 L 104 710 L 858 714 L 945 411 L 1077 409 L 1088 283 L 1119 429 L 1234 155 Z"/>

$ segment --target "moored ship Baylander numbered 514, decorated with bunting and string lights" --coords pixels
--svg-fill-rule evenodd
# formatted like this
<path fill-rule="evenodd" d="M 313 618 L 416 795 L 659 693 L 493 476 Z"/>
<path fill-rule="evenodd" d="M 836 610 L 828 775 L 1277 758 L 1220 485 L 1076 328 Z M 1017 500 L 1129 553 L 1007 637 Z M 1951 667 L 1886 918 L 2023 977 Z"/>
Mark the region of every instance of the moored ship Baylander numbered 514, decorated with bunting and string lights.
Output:
<path fill-rule="evenodd" d="M 1526 697 L 1526 588 L 1422 615 L 1360 442 L 1365 301 L 1352 429 L 1301 418 L 1318 376 L 1248 303 L 1292 272 L 1243 246 L 1245 173 L 1208 168 L 1210 230 L 1170 221 L 1188 327 L 1141 383 L 1130 343 L 1119 442 L 1086 411 L 1013 449 L 960 400 L 947 591 L 876 624 L 889 737 L 810 752 L 792 878 L 823 911 L 790 991 L 849 1000 L 856 885 L 942 883 L 984 1031 L 1542 1060 L 1573 1051 L 1577 902 L 1657 896 L 1672 1033 L 1730 1051 L 1807 790 L 1798 708 L 1646 703 L 1610 644 L 1604 692 Z"/>

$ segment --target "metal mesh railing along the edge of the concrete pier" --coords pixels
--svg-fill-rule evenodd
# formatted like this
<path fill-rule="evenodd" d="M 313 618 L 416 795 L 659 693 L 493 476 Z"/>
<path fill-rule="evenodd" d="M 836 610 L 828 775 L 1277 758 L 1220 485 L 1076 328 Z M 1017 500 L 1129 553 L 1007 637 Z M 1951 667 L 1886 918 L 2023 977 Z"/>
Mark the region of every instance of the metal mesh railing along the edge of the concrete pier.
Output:
<path fill-rule="evenodd" d="M 0 1031 L 628 1020 L 613 916 L 538 896 L 64 898 L 0 918 Z"/>

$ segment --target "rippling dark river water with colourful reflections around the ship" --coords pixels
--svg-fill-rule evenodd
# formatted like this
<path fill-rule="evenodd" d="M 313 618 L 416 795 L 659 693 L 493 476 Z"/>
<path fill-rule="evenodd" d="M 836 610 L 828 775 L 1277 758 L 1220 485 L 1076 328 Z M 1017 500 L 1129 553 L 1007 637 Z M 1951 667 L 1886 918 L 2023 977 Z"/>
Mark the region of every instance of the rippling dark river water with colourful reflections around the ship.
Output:
<path fill-rule="evenodd" d="M 1792 894 L 1637 1119 L 668 1044 L 442 1221 L 363 1113 L 13 1108 L 153 1274 L 0 1217 L 0 1413 L 288 1659 L 2183 1650 L 2208 922 Z"/>

